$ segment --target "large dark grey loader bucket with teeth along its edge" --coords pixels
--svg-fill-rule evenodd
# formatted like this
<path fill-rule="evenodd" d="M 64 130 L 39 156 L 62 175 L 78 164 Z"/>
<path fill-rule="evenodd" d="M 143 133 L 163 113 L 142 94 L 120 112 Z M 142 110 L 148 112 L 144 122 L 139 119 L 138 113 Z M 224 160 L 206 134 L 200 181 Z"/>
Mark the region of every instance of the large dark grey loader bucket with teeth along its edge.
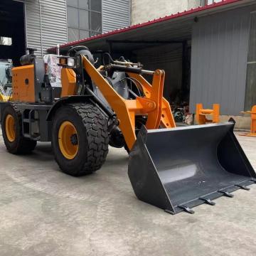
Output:
<path fill-rule="evenodd" d="M 137 198 L 175 214 L 256 182 L 233 122 L 172 129 L 142 127 L 129 155 Z"/>

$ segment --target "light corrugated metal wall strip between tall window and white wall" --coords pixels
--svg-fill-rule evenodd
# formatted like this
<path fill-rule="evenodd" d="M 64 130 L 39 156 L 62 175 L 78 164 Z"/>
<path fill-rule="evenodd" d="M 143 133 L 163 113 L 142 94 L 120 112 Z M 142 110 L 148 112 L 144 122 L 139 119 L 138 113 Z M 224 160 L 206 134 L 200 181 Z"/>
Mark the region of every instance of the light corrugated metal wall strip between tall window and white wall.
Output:
<path fill-rule="evenodd" d="M 131 23 L 131 0 L 102 0 L 102 33 Z"/>

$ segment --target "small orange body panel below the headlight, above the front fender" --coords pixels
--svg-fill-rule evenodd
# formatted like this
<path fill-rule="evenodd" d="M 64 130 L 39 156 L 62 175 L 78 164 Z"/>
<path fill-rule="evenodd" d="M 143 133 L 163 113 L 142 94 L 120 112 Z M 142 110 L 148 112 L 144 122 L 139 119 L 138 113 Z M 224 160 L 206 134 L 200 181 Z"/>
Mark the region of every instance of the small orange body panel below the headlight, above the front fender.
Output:
<path fill-rule="evenodd" d="M 72 68 L 62 68 L 61 73 L 61 97 L 75 95 L 76 76 Z"/>

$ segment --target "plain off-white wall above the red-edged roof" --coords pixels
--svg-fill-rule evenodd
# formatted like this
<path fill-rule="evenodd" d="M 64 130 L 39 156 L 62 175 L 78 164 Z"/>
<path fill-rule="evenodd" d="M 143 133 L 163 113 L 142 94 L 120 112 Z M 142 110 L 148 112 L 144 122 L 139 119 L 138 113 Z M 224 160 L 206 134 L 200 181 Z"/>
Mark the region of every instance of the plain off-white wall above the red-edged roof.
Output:
<path fill-rule="evenodd" d="M 132 0 L 132 24 L 200 6 L 201 0 Z"/>

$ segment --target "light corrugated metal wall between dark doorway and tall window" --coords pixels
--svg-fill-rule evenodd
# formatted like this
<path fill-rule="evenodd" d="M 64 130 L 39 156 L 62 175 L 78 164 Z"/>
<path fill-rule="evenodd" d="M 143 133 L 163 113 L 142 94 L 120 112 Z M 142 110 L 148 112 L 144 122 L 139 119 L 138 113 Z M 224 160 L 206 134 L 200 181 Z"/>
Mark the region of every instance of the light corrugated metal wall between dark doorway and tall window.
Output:
<path fill-rule="evenodd" d="M 67 15 L 65 0 L 26 0 L 26 45 L 37 48 L 38 56 L 56 44 L 66 43 Z"/>

